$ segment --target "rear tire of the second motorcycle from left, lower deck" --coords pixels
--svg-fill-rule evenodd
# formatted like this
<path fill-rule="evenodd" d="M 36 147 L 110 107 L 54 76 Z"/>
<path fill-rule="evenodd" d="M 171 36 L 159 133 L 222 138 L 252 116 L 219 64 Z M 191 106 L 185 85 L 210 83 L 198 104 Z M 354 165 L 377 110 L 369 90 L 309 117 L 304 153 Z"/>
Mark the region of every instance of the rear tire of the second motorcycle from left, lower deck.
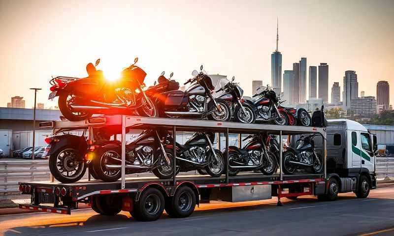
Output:
<path fill-rule="evenodd" d="M 103 162 L 107 160 L 102 160 L 104 157 L 104 154 L 115 154 L 119 155 L 121 153 L 121 148 L 97 148 L 94 152 L 94 157 L 92 160 L 92 166 L 93 166 L 93 172 L 96 174 L 98 179 L 101 179 L 104 182 L 114 182 L 118 180 L 122 176 L 122 171 L 121 169 L 119 170 L 113 170 L 112 172 L 110 170 L 105 169 L 103 167 Z M 118 163 L 120 165 L 120 163 Z"/>

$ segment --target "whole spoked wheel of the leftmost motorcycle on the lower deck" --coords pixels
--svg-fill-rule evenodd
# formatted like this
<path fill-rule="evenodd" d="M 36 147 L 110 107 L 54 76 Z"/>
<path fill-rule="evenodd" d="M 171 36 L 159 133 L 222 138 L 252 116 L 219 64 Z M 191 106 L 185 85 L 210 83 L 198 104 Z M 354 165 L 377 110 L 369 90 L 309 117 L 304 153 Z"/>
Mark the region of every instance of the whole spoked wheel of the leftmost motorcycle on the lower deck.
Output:
<path fill-rule="evenodd" d="M 49 157 L 49 170 L 56 180 L 73 183 L 81 179 L 86 172 L 86 163 L 78 160 L 78 150 L 65 147 Z"/>

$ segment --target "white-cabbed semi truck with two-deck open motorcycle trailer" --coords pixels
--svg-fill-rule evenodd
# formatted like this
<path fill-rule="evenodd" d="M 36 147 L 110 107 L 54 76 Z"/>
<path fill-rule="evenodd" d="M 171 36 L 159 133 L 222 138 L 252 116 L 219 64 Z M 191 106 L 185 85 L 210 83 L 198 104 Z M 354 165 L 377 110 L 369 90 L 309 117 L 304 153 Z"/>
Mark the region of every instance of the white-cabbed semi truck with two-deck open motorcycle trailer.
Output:
<path fill-rule="evenodd" d="M 355 192 L 365 198 L 369 190 L 376 188 L 375 151 L 376 137 L 359 123 L 351 120 L 331 120 L 328 127 L 281 126 L 272 124 L 242 124 L 196 119 L 143 118 L 125 115 L 100 116 L 81 121 L 50 121 L 40 127 L 52 127 L 53 133 L 75 129 L 87 129 L 88 139 L 94 142 L 94 129 L 115 125 L 121 129 L 122 177 L 115 182 L 80 180 L 74 183 L 20 182 L 20 191 L 31 195 L 30 204 L 20 204 L 22 209 L 71 214 L 78 204 L 89 204 L 103 215 L 115 215 L 129 211 L 141 221 L 160 218 L 164 209 L 171 217 L 187 217 L 200 203 L 219 200 L 227 202 L 256 201 L 277 197 L 296 199 L 313 195 L 321 201 L 333 201 L 338 193 Z M 177 131 L 211 131 L 218 137 L 226 137 L 224 157 L 226 171 L 221 177 L 207 175 L 173 176 L 168 179 L 152 177 L 126 178 L 126 134 L 133 129 L 166 128 L 173 134 Z M 275 135 L 280 143 L 279 170 L 273 175 L 241 172 L 229 175 L 229 134 L 241 135 L 266 132 Z M 288 147 L 300 135 L 316 134 L 317 152 L 323 156 L 322 173 L 285 174 L 283 171 L 283 148 Z M 220 139 L 217 139 L 220 140 Z M 175 158 L 176 135 L 173 135 Z M 286 142 L 286 143 L 285 143 Z M 217 145 L 220 145 L 218 142 Z M 220 148 L 220 147 L 219 147 Z M 176 161 L 172 162 L 174 170 Z"/>

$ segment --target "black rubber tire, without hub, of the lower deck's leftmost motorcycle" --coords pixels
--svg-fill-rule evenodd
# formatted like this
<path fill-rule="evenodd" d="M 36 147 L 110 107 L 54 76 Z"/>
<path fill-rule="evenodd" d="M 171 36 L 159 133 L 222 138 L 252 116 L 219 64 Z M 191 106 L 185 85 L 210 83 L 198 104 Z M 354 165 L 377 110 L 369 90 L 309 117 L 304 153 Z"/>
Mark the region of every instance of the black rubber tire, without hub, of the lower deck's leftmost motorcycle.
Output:
<path fill-rule="evenodd" d="M 80 180 L 86 172 L 86 163 L 84 161 L 80 162 L 79 165 L 82 165 L 81 167 L 78 165 L 78 172 L 76 172 L 74 175 L 72 176 L 64 176 L 62 175 L 63 172 L 60 172 L 60 170 L 58 169 L 59 165 L 58 165 L 58 158 L 60 157 L 60 155 L 62 153 L 65 153 L 65 151 L 70 151 L 70 152 L 75 152 L 76 155 L 78 155 L 78 151 L 76 149 L 73 149 L 72 147 L 64 147 L 62 149 L 59 149 L 57 151 L 55 151 L 54 153 L 52 153 L 49 156 L 49 170 L 51 171 L 51 174 L 53 175 L 53 177 L 56 178 L 56 180 L 58 180 L 59 182 L 62 183 L 73 183 L 76 182 L 78 180 Z M 60 162 L 60 163 L 65 163 L 64 161 Z M 67 163 L 67 162 L 66 162 Z"/>

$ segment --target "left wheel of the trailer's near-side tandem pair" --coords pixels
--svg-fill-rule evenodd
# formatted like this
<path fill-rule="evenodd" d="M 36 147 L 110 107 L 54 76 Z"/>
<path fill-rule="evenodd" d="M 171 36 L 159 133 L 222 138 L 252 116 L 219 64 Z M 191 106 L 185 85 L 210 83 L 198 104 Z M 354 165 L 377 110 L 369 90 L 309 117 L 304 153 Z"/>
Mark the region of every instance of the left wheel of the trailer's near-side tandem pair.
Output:
<path fill-rule="evenodd" d="M 148 188 L 142 192 L 138 202 L 134 202 L 131 215 L 138 221 L 154 221 L 164 211 L 164 196 L 156 188 Z"/>

